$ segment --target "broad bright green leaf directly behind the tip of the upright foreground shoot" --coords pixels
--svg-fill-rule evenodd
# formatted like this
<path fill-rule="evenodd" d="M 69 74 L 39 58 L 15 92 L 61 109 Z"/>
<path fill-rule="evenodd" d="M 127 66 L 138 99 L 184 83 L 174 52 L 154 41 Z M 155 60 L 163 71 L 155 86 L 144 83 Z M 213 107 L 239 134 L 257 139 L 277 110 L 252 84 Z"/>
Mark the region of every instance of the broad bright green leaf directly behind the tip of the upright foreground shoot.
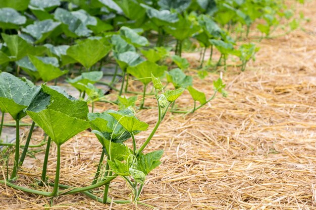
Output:
<path fill-rule="evenodd" d="M 166 65 L 158 65 L 154 62 L 148 60 L 139 63 L 135 66 L 129 66 L 127 68 L 127 73 L 133 75 L 135 78 L 140 79 L 144 85 L 151 82 L 151 74 L 154 77 L 161 77 L 164 72 L 167 71 L 168 67 Z"/>

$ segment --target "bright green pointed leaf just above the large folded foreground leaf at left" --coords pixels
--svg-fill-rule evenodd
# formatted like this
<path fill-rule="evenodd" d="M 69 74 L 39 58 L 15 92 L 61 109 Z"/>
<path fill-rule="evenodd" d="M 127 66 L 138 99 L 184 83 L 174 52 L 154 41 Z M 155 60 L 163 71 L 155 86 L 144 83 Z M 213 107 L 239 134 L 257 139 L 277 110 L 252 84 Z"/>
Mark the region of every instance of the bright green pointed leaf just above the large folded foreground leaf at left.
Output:
<path fill-rule="evenodd" d="M 44 61 L 33 55 L 29 55 L 29 59 L 37 69 L 37 72 L 44 82 L 59 78 L 60 76 L 68 72 L 67 70 L 61 71 L 59 67 L 56 67 L 50 63 L 45 63 Z"/>

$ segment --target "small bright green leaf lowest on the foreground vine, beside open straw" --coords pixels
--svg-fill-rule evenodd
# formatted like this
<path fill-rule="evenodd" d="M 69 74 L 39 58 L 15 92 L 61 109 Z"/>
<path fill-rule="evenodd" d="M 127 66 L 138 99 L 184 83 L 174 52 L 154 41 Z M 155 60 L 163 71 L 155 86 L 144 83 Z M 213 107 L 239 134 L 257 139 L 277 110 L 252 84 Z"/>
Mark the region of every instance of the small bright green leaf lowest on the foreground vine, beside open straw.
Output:
<path fill-rule="evenodd" d="M 161 164 L 160 159 L 163 154 L 163 150 L 154 151 L 145 155 L 139 154 L 137 157 L 137 169 L 147 175 L 150 171 Z"/>

